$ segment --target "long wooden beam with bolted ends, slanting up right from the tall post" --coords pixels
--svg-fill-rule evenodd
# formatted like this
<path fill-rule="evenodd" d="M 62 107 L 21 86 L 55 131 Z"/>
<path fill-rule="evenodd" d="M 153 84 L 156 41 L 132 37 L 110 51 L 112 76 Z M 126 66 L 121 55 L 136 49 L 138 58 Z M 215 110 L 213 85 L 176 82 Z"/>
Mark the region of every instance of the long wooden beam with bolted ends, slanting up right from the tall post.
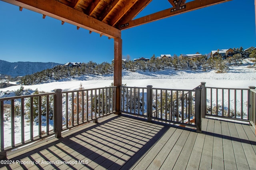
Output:
<path fill-rule="evenodd" d="M 212 6 L 212 5 L 216 5 L 216 4 L 220 4 L 220 3 L 228 2 L 228 1 L 231 1 L 231 0 L 194 0 L 194 1 L 186 3 L 185 4 L 186 8 L 184 8 L 184 9 L 176 10 L 174 12 L 171 12 L 171 10 L 176 8 L 176 7 L 169 8 L 169 9 L 166 9 L 166 10 L 162 10 L 160 12 L 156 12 L 154 14 L 150 14 L 148 16 L 144 16 L 144 17 L 141 17 L 141 18 L 138 18 L 138 19 L 135 19 L 135 20 L 131 20 L 131 21 L 128 21 L 128 22 L 122 22 L 118 25 L 118 28 L 121 29 L 121 30 L 124 30 L 124 29 L 128 29 L 128 28 L 131 28 L 131 27 L 136 27 L 138 25 L 143 25 L 143 24 L 146 24 L 146 23 L 150 23 L 152 21 L 161 20 L 161 19 L 168 18 L 168 17 L 171 17 L 171 16 L 176 16 L 178 14 L 182 14 L 182 13 L 185 13 L 185 12 L 198 10 L 200 8 L 205 8 L 205 7 L 208 7 L 208 6 Z M 122 27 L 121 27 L 121 25 L 122 25 Z M 125 26 L 123 26 L 123 25 L 125 25 Z"/>

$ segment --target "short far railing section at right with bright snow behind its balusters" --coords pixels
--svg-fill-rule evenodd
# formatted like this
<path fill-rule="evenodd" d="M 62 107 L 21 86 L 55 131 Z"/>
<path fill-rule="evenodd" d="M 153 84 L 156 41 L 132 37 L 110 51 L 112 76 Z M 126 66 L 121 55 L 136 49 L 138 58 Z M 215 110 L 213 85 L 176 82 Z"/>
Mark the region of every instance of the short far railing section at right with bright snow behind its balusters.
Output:
<path fill-rule="evenodd" d="M 250 88 L 203 87 L 202 109 L 206 116 L 249 120 Z M 203 115 L 204 117 L 204 115 Z"/>

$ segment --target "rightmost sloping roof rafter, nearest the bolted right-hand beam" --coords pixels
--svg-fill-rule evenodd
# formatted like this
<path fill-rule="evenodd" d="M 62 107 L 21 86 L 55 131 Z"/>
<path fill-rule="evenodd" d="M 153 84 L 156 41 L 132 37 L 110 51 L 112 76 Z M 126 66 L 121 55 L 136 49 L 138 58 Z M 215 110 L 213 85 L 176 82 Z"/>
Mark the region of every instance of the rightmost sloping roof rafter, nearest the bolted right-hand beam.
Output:
<path fill-rule="evenodd" d="M 120 21 L 120 23 L 128 23 L 129 21 L 131 21 L 134 17 L 136 17 L 148 4 L 150 4 L 152 0 L 144 0 L 144 1 L 138 1 L 137 4 L 135 4 L 132 7 L 132 11 L 129 12 L 129 14 L 127 14 L 125 16 L 125 18 L 122 19 L 122 21 Z"/>

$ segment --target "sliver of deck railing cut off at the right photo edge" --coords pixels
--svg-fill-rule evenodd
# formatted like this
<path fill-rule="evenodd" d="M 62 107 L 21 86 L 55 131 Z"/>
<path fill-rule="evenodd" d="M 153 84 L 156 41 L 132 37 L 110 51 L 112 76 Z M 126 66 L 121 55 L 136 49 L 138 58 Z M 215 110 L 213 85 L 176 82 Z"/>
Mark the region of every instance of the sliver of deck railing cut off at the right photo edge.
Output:
<path fill-rule="evenodd" d="M 250 125 L 256 129 L 256 90 L 250 87 Z M 256 134 L 256 130 L 255 130 Z"/>

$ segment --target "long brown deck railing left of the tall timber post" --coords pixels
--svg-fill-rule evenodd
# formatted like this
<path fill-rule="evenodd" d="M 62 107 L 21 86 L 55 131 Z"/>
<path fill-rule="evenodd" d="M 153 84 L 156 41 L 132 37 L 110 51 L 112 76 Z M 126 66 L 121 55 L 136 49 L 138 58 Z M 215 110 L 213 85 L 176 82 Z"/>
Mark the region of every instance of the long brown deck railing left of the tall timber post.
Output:
<path fill-rule="evenodd" d="M 50 135 L 61 137 L 64 130 L 115 112 L 115 94 L 112 86 L 0 98 L 0 158 L 9 150 Z"/>

